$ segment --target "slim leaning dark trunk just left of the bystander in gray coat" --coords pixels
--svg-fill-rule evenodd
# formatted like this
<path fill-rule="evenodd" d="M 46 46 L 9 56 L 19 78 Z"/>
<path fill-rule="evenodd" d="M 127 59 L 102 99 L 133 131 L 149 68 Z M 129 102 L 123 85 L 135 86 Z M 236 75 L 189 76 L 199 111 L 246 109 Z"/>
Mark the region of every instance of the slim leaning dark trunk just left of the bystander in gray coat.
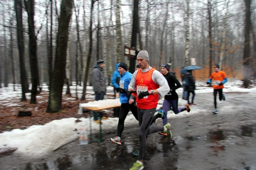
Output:
<path fill-rule="evenodd" d="M 87 57 L 87 62 L 86 62 L 86 70 L 85 70 L 85 75 L 84 75 L 84 89 L 83 89 L 83 94 L 82 94 L 81 100 L 85 100 L 87 80 L 88 80 L 88 75 L 89 75 L 89 70 L 90 70 L 90 62 L 91 62 L 91 56 L 92 56 L 92 14 L 93 14 L 93 6 L 94 6 L 95 1 L 96 0 L 91 0 L 91 16 L 90 16 L 90 27 L 89 27 L 90 45 L 89 45 L 89 53 L 88 53 L 88 57 Z"/>

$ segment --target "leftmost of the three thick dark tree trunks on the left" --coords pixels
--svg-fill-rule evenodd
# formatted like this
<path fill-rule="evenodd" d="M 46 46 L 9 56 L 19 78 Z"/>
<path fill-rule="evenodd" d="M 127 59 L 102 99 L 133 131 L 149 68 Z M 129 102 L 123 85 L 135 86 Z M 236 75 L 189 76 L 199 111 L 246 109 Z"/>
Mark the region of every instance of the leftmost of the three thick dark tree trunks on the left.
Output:
<path fill-rule="evenodd" d="M 28 78 L 24 62 L 24 36 L 23 36 L 23 23 L 22 23 L 22 0 L 14 0 L 16 22 L 17 22 L 17 39 L 20 58 L 20 81 L 22 89 L 21 101 L 26 101 L 26 92 L 28 92 Z"/>

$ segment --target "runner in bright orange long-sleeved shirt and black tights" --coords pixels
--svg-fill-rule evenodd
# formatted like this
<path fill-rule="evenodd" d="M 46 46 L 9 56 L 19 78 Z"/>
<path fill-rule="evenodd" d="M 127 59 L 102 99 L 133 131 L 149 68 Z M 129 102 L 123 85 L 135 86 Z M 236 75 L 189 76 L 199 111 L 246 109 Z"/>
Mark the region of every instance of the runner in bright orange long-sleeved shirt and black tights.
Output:
<path fill-rule="evenodd" d="M 212 113 L 216 114 L 219 113 L 218 109 L 217 109 L 217 93 L 219 92 L 219 100 L 226 100 L 226 96 L 225 93 L 223 93 L 222 89 L 224 88 L 224 83 L 226 83 L 228 81 L 228 77 L 226 75 L 226 73 L 224 71 L 220 71 L 220 65 L 219 64 L 215 64 L 214 65 L 214 69 L 215 72 L 213 72 L 210 75 L 209 80 L 207 81 L 206 84 L 210 84 L 211 82 L 213 82 L 213 95 L 214 95 L 214 107 L 215 110 L 212 111 Z"/>

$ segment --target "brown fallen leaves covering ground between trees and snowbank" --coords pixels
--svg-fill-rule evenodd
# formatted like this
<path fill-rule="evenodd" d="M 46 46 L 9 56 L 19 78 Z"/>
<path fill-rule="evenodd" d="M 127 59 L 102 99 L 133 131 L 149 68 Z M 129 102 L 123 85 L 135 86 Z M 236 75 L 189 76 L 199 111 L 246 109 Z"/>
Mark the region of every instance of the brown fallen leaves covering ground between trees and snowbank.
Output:
<path fill-rule="evenodd" d="M 12 106 L 2 105 L 0 107 L 0 133 L 11 131 L 12 129 L 26 129 L 32 125 L 44 125 L 53 120 L 64 118 L 81 118 L 88 117 L 89 113 L 78 115 L 79 103 L 87 101 L 75 100 L 75 97 L 64 95 L 62 98 L 62 110 L 58 113 L 46 113 L 48 106 L 48 95 L 45 93 L 38 94 L 37 104 L 30 104 L 30 98 L 26 102 L 20 102 L 20 99 L 12 100 Z M 66 98 L 66 99 L 65 99 Z M 72 98 L 72 99 L 70 99 Z M 0 99 L 1 100 L 1 99 Z M 4 101 L 1 101 L 4 103 Z M 8 102 L 6 102 L 8 103 Z M 10 103 L 10 102 L 9 102 Z M 14 104 L 18 106 L 13 106 Z M 31 111 L 31 116 L 18 117 L 18 111 Z M 111 116 L 111 115 L 110 115 Z"/>

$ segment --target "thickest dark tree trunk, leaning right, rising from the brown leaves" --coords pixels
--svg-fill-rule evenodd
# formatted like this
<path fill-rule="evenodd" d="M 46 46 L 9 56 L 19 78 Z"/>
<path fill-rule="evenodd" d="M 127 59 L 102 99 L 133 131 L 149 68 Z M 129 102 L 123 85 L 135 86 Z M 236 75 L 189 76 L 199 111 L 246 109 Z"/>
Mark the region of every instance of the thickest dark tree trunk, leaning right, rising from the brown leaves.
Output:
<path fill-rule="evenodd" d="M 62 0 L 60 6 L 60 18 L 58 35 L 56 39 L 56 55 L 50 84 L 50 94 L 46 112 L 56 113 L 61 109 L 62 90 L 66 78 L 66 53 L 68 45 L 68 27 L 72 15 L 74 0 Z"/>

